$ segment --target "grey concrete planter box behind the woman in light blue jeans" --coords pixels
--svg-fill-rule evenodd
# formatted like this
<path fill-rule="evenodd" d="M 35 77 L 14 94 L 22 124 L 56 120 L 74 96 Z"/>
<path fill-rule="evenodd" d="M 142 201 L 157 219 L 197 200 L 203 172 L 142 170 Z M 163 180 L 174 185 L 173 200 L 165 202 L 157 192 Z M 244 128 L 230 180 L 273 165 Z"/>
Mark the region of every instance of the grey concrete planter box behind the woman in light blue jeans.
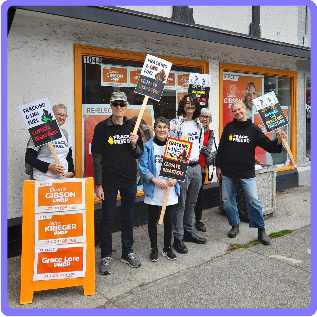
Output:
<path fill-rule="evenodd" d="M 256 187 L 258 196 L 262 201 L 263 217 L 266 219 L 273 216 L 276 198 L 276 166 L 262 165 L 261 170 L 256 171 Z M 249 222 L 247 205 L 243 189 L 238 183 L 236 202 L 239 218 L 241 221 Z M 222 200 L 222 182 L 219 182 L 219 210 L 225 215 Z"/>

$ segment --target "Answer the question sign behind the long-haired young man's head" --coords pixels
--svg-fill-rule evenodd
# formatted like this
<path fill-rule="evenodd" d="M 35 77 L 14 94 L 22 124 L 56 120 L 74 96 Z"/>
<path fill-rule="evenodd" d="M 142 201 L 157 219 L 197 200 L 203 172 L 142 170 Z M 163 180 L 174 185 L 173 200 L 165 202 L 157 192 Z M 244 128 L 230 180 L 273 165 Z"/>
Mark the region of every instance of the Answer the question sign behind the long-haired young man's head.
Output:
<path fill-rule="evenodd" d="M 188 93 L 194 94 L 202 108 L 208 108 L 211 75 L 189 73 Z"/>

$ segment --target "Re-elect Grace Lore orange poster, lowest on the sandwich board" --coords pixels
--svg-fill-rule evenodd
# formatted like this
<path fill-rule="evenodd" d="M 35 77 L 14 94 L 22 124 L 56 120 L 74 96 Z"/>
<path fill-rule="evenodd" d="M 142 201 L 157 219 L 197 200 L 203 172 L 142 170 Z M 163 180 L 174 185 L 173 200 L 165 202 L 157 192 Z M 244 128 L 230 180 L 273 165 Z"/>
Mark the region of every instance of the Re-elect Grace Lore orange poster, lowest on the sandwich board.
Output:
<path fill-rule="evenodd" d="M 33 281 L 84 277 L 86 243 L 35 247 Z"/>

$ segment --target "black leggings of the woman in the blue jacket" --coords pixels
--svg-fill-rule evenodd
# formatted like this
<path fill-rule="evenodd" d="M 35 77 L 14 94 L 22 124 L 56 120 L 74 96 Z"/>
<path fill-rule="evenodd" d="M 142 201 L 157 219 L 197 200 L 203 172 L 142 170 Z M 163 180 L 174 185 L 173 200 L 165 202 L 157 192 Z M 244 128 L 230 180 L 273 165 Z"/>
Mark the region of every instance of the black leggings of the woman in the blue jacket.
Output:
<path fill-rule="evenodd" d="M 174 214 L 174 206 L 170 205 L 166 206 L 165 215 L 164 215 L 164 246 L 170 247 L 172 242 L 172 220 Z M 157 248 L 157 231 L 156 231 L 156 223 L 159 218 L 159 206 L 149 205 L 147 204 L 147 208 L 149 210 L 149 220 L 147 223 L 147 231 L 149 232 L 149 237 L 151 241 L 151 248 Z"/>

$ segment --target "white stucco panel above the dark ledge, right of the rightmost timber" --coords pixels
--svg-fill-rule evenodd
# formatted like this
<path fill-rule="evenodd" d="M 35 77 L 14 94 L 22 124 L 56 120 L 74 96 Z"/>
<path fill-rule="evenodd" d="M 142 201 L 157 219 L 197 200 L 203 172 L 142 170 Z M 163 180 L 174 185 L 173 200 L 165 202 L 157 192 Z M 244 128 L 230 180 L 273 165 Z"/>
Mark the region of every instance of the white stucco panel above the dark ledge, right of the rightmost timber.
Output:
<path fill-rule="evenodd" d="M 298 45 L 297 11 L 296 5 L 261 5 L 261 37 Z"/>

